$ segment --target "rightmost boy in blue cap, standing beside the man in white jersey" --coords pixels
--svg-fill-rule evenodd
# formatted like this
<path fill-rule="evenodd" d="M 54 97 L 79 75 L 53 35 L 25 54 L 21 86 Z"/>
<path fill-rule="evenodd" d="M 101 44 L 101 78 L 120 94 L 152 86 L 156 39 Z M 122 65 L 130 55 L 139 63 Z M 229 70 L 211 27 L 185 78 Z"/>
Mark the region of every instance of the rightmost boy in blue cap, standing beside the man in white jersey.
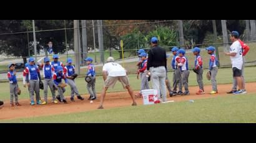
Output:
<path fill-rule="evenodd" d="M 217 82 L 216 82 L 216 76 L 218 73 L 218 60 L 214 54 L 215 48 L 210 46 L 206 48 L 207 53 L 210 55 L 210 62 L 209 62 L 209 71 L 210 71 L 210 80 L 212 81 L 212 91 L 210 92 L 210 95 L 215 95 L 218 93 L 217 90 Z"/>

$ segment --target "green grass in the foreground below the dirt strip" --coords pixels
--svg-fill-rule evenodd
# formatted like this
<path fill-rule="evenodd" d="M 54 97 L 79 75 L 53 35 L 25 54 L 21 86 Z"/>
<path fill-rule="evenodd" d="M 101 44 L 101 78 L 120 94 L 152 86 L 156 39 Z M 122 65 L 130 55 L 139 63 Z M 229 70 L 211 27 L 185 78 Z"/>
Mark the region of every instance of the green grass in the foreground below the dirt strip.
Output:
<path fill-rule="evenodd" d="M 233 95 L 0 122 L 256 122 L 256 96 Z"/>

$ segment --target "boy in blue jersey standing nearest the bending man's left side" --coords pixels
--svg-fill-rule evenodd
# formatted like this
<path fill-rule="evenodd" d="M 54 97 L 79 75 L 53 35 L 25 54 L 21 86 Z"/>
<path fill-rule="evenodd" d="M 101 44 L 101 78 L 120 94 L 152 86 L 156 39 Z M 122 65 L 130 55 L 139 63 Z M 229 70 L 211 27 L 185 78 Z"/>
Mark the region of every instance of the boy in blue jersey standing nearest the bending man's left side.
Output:
<path fill-rule="evenodd" d="M 97 99 L 97 94 L 96 94 L 96 90 L 95 90 L 95 84 L 96 84 L 96 72 L 95 72 L 95 67 L 92 64 L 92 58 L 88 57 L 86 59 L 84 59 L 87 63 L 87 73 L 86 76 L 90 76 L 91 77 L 91 81 L 89 81 L 89 83 L 87 83 L 87 90 L 90 94 L 90 97 L 88 99 L 90 100 L 94 100 Z"/>

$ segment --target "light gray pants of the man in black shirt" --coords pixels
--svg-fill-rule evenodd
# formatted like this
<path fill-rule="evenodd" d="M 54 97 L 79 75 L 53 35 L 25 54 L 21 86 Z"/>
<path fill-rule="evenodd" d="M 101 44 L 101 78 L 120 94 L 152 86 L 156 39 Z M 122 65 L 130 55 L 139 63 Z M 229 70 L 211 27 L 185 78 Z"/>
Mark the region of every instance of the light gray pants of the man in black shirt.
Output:
<path fill-rule="evenodd" d="M 162 93 L 163 101 L 167 101 L 166 98 L 166 88 L 165 88 L 165 78 L 166 70 L 165 67 L 150 67 L 150 73 L 152 78 L 153 89 L 157 90 L 160 99 L 160 93 Z"/>

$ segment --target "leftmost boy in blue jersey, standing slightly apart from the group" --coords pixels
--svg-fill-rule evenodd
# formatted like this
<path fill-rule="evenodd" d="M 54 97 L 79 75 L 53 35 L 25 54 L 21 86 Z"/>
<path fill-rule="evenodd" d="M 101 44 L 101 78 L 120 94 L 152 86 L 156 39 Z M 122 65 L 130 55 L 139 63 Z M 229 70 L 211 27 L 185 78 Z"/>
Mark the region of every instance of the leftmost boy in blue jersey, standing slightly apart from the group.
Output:
<path fill-rule="evenodd" d="M 17 90 L 18 90 L 19 86 L 17 85 L 16 71 L 14 71 L 15 70 L 14 63 L 9 64 L 8 68 L 9 68 L 9 71 L 7 73 L 7 78 L 9 79 L 9 83 L 10 83 L 11 106 L 14 106 L 13 97 L 15 98 L 16 106 L 21 106 L 21 104 L 19 104 L 18 98 L 17 98 Z"/>

